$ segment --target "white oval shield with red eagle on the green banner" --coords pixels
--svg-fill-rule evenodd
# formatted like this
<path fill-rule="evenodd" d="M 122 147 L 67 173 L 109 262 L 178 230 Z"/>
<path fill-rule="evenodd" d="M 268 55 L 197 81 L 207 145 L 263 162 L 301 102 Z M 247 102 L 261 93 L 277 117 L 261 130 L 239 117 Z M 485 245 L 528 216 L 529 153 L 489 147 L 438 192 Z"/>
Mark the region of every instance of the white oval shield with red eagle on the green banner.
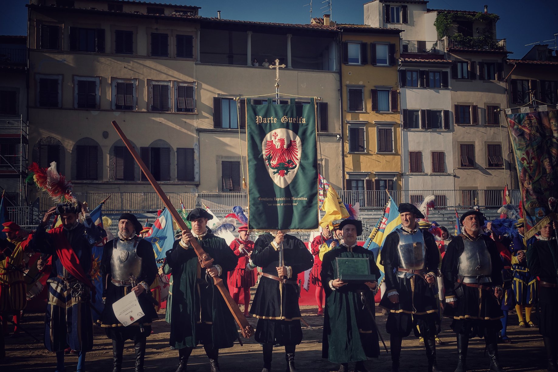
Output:
<path fill-rule="evenodd" d="M 266 134 L 262 141 L 263 162 L 275 184 L 285 188 L 299 171 L 302 142 L 295 132 L 277 128 Z"/>

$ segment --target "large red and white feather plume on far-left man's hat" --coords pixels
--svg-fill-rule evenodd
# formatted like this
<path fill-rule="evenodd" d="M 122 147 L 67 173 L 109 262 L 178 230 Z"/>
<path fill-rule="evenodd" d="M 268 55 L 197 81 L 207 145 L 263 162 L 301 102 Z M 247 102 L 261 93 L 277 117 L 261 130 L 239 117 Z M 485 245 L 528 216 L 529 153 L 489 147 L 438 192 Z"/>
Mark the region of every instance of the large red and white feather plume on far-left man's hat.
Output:
<path fill-rule="evenodd" d="M 50 163 L 49 168 L 41 168 L 37 163 L 32 163 L 29 170 L 33 173 L 37 189 L 47 192 L 55 202 L 78 202 L 72 195 L 74 186 L 56 171 L 56 162 Z"/>

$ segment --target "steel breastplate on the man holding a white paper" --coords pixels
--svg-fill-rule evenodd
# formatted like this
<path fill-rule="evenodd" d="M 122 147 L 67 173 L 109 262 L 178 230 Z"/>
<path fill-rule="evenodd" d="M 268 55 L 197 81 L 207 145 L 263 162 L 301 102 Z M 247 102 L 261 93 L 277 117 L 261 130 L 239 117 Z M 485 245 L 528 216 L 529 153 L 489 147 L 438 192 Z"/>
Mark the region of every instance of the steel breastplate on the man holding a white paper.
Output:
<path fill-rule="evenodd" d="M 122 241 L 116 239 L 116 247 L 112 251 L 110 269 L 113 279 L 129 281 L 130 277 L 139 277 L 141 274 L 142 258 L 137 255 L 136 247 L 140 238 Z"/>

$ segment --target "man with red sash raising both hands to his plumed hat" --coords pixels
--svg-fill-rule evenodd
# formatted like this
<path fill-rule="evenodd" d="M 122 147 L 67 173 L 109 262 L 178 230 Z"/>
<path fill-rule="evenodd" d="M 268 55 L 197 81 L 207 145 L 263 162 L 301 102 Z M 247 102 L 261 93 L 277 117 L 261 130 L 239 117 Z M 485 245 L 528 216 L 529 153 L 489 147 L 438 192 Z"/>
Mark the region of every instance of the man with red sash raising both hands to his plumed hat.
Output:
<path fill-rule="evenodd" d="M 78 220 L 83 213 L 84 222 Z M 61 226 L 46 231 L 53 214 Z M 52 255 L 47 281 L 49 302 L 45 314 L 45 346 L 56 352 L 56 369 L 64 371 L 64 350 L 78 352 L 78 371 L 85 368 L 85 352 L 93 349 L 90 301 L 95 298 L 91 282 L 91 247 L 107 236 L 95 226 L 87 204 L 61 203 L 49 209 L 30 240 L 35 252 Z"/>

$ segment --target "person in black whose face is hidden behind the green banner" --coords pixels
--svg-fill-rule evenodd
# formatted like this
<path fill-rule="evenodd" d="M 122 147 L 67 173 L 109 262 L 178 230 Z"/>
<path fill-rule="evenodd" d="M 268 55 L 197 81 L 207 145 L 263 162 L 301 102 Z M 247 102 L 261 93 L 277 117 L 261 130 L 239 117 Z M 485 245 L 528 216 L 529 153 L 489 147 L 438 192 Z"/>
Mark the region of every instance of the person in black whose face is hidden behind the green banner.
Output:
<path fill-rule="evenodd" d="M 271 370 L 273 345 L 285 346 L 287 372 L 296 372 L 295 348 L 302 341 L 296 278 L 312 267 L 314 257 L 300 239 L 277 231 L 275 235 L 259 236 L 251 258 L 254 265 L 262 268 L 250 308 L 252 316 L 258 318 L 255 339 L 263 346 L 262 372 Z"/>

